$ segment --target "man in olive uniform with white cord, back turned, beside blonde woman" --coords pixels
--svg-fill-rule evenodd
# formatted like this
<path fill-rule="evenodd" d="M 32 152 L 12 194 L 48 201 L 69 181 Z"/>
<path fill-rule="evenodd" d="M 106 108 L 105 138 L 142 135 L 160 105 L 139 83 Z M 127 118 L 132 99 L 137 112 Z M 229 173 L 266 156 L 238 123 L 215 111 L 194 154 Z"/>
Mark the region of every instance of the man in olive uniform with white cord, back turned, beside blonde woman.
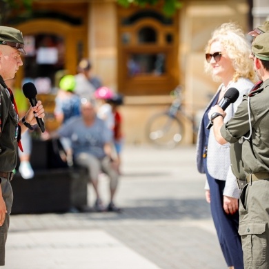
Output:
<path fill-rule="evenodd" d="M 245 269 L 269 268 L 269 33 L 252 43 L 253 61 L 261 86 L 243 97 L 234 117 L 223 124 L 226 113 L 214 106 L 209 117 L 220 144 L 242 143 L 246 174 L 239 203 L 239 234 Z M 233 160 L 231 160 L 233 161 Z M 232 163 L 237 166 L 238 163 Z"/>

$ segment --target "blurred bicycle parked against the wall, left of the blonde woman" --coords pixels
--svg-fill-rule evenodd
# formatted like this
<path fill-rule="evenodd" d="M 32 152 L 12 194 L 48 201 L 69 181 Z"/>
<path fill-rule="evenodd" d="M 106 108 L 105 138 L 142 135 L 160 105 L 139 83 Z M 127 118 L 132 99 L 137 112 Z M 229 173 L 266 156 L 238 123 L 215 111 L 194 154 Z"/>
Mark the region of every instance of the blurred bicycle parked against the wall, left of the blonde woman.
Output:
<path fill-rule="evenodd" d="M 170 108 L 163 112 L 154 114 L 146 123 L 146 137 L 156 146 L 175 148 L 183 139 L 185 134 L 182 119 L 185 118 L 192 123 L 192 141 L 195 142 L 197 135 L 197 125 L 195 117 L 183 110 L 182 106 L 182 86 L 177 86 L 172 90 L 172 101 Z"/>

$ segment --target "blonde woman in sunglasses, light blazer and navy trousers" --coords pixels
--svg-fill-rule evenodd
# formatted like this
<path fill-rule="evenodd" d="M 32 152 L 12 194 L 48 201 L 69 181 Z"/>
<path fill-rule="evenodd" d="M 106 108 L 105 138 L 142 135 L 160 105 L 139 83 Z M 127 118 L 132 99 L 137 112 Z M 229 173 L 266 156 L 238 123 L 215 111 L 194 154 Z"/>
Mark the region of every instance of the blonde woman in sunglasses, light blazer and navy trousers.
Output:
<path fill-rule="evenodd" d="M 229 88 L 239 91 L 239 98 L 226 109 L 227 122 L 248 93 L 256 76 L 249 58 L 250 45 L 243 31 L 235 23 L 223 23 L 212 32 L 206 46 L 206 72 L 214 81 L 219 81 L 217 92 L 203 114 L 197 139 L 197 168 L 206 173 L 206 201 L 210 203 L 212 219 L 228 268 L 243 269 L 243 252 L 238 234 L 238 199 L 240 190 L 230 167 L 230 144 L 219 145 L 213 128 L 207 129 L 208 112 Z"/>

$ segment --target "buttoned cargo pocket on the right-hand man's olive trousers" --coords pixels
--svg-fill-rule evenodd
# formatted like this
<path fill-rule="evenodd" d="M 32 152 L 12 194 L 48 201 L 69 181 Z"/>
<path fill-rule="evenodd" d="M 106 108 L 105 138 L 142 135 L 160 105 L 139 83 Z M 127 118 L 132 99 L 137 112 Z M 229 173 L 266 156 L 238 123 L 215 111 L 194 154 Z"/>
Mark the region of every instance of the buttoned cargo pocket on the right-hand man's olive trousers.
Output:
<path fill-rule="evenodd" d="M 266 222 L 239 223 L 245 266 L 261 266 L 266 261 Z"/>

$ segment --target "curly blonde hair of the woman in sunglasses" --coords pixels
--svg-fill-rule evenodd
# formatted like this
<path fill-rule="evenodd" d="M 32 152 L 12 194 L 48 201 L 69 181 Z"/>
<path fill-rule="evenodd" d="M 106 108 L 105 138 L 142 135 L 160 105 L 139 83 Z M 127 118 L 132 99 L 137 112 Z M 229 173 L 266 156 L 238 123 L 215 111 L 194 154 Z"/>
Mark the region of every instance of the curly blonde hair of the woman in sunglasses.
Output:
<path fill-rule="evenodd" d="M 249 58 L 251 53 L 250 43 L 248 43 L 243 30 L 237 23 L 223 23 L 219 28 L 212 32 L 212 37 L 206 46 L 206 53 L 209 53 L 212 43 L 219 41 L 227 56 L 232 61 L 232 66 L 235 69 L 233 81 L 237 81 L 239 77 L 250 79 L 252 82 L 257 81 L 257 75 L 254 70 L 252 59 Z M 212 74 L 212 66 L 210 63 L 205 63 L 205 70 L 212 75 L 215 81 L 220 78 Z"/>

